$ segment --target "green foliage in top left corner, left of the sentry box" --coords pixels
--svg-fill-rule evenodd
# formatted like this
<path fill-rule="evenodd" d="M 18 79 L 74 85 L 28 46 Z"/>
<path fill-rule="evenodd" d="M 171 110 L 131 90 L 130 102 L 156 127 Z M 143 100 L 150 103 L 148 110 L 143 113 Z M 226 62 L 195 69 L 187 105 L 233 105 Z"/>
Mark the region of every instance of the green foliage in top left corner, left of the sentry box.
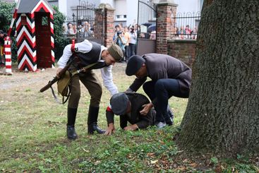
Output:
<path fill-rule="evenodd" d="M 13 18 L 11 11 L 15 5 L 14 3 L 10 4 L 5 1 L 0 1 L 0 30 L 4 30 L 4 32 L 8 31 Z"/>

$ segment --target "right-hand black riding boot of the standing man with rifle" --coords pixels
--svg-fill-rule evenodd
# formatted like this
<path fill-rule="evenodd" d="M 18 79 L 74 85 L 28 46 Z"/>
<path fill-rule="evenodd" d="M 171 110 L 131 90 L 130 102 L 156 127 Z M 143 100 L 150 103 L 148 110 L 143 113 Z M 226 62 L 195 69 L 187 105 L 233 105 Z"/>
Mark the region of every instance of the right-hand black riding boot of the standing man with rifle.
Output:
<path fill-rule="evenodd" d="M 89 107 L 89 113 L 88 113 L 88 133 L 93 134 L 95 131 L 97 133 L 105 133 L 104 130 L 100 129 L 97 125 L 97 119 L 98 119 L 98 113 L 99 113 L 99 107 Z"/>

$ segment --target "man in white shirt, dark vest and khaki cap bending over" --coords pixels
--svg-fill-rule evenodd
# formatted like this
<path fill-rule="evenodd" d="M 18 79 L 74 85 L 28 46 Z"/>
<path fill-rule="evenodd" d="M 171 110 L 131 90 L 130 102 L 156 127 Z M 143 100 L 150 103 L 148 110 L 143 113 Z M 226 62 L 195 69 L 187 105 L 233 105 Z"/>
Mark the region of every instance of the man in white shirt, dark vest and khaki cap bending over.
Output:
<path fill-rule="evenodd" d="M 68 99 L 68 123 L 67 123 L 67 137 L 68 139 L 76 139 L 77 134 L 75 131 L 76 113 L 78 110 L 78 102 L 80 100 L 80 83 L 79 80 L 88 89 L 91 99 L 88 112 L 88 133 L 92 134 L 104 133 L 105 131 L 97 126 L 97 118 L 99 113 L 99 105 L 102 97 L 102 85 L 98 80 L 92 69 L 100 68 L 103 78 L 104 86 L 109 92 L 114 95 L 118 93 L 116 85 L 113 83 L 112 78 L 112 65 L 121 60 L 124 56 L 120 47 L 112 44 L 108 49 L 96 42 L 84 40 L 76 44 L 68 44 L 64 48 L 63 55 L 58 61 L 56 75 L 59 76 L 61 71 L 68 61 L 73 61 L 68 71 L 78 71 L 85 66 L 95 64 L 87 71 L 80 71 L 71 78 L 71 96 Z"/>

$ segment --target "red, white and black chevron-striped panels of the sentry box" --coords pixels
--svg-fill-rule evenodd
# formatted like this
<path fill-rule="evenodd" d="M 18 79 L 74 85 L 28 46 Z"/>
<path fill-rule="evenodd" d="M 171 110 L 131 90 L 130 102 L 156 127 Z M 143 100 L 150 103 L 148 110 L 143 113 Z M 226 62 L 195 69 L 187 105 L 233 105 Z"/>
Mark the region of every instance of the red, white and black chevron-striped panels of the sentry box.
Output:
<path fill-rule="evenodd" d="M 18 47 L 18 68 L 25 71 L 36 71 L 37 70 L 37 45 L 35 36 L 35 12 L 45 11 L 50 13 L 50 28 L 51 28 L 51 46 L 52 46 L 52 66 L 54 66 L 54 25 L 53 25 L 53 11 L 45 3 L 40 0 L 35 8 L 32 9 L 31 13 L 26 13 L 26 23 L 22 25 L 22 14 L 18 13 L 16 22 L 17 31 L 17 47 Z"/>

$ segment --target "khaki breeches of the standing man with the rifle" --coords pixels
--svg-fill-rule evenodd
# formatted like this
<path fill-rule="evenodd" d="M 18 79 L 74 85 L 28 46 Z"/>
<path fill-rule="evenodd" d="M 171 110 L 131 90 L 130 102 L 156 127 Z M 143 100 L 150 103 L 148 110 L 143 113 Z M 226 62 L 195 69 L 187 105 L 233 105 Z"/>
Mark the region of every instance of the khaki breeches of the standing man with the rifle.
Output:
<path fill-rule="evenodd" d="M 92 71 L 88 71 L 87 73 L 80 72 L 72 77 L 71 95 L 68 99 L 68 107 L 78 108 L 81 95 L 79 80 L 85 85 L 85 88 L 87 88 L 90 93 L 90 107 L 99 107 L 102 97 L 102 85 Z"/>

